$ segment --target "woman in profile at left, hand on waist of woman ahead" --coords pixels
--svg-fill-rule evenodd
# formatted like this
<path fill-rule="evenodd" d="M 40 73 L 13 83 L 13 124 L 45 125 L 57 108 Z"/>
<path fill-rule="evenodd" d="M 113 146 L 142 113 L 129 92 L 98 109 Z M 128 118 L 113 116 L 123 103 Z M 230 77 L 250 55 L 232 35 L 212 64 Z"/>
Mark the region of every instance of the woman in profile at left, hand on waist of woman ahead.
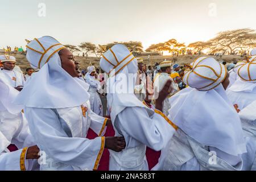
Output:
<path fill-rule="evenodd" d="M 32 75 L 15 102 L 25 106 L 31 134 L 42 151 L 41 170 L 96 170 L 104 148 L 121 151 L 122 138 L 101 137 L 106 118 L 90 110 L 88 84 L 79 64 L 57 40 L 43 36 L 27 45 Z M 92 128 L 99 137 L 86 139 Z"/>

